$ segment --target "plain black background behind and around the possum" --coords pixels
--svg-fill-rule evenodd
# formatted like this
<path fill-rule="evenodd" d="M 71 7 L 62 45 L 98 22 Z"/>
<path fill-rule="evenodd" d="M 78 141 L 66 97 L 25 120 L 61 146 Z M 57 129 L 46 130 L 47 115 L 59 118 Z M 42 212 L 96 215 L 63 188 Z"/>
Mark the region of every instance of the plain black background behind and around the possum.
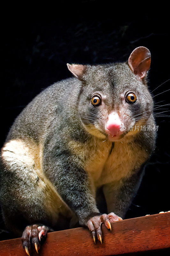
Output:
<path fill-rule="evenodd" d="M 65 5 L 65 6 L 64 6 Z M 167 6 L 149 8 L 143 1 L 119 7 L 111 1 L 72 1 L 52 13 L 37 17 L 29 12 L 8 15 L 2 24 L 5 55 L 1 84 L 1 137 L 5 137 L 21 110 L 35 95 L 54 82 L 70 77 L 66 63 L 97 64 L 126 61 L 138 46 L 151 51 L 149 88 L 154 90 L 170 79 L 169 14 Z M 51 8 L 51 12 L 52 12 Z M 12 11 L 11 11 L 12 12 Z M 46 14 L 48 11 L 46 11 Z M 48 13 L 49 14 L 49 13 Z M 170 81 L 153 92 L 157 95 L 170 88 Z M 170 91 L 154 97 L 158 104 L 169 104 Z M 169 110 L 169 106 L 164 106 Z M 157 147 L 148 164 L 141 187 L 126 218 L 169 211 L 169 112 L 156 118 Z M 1 231 L 2 230 L 2 231 Z M 0 239 L 12 236 L 0 220 Z"/>

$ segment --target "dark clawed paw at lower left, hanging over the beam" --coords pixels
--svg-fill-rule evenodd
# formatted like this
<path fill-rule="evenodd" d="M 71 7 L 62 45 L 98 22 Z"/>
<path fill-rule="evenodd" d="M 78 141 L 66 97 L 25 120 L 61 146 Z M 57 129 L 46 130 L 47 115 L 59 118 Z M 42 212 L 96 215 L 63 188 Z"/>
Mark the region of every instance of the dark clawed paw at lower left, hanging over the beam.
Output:
<path fill-rule="evenodd" d="M 40 241 L 46 238 L 48 232 L 54 231 L 47 226 L 31 225 L 24 229 L 22 234 L 22 246 L 25 249 L 27 255 L 30 256 L 31 244 L 35 247 L 36 252 L 40 249 Z"/>

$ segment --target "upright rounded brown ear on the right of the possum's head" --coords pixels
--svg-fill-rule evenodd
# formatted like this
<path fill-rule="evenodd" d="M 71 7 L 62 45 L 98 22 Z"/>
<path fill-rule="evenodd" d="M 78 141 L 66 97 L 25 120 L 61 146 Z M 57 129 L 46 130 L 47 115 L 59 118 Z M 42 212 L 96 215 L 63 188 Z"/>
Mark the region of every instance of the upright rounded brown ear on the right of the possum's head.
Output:
<path fill-rule="evenodd" d="M 144 46 L 137 47 L 129 56 L 129 67 L 142 79 L 151 65 L 151 52 Z"/>

